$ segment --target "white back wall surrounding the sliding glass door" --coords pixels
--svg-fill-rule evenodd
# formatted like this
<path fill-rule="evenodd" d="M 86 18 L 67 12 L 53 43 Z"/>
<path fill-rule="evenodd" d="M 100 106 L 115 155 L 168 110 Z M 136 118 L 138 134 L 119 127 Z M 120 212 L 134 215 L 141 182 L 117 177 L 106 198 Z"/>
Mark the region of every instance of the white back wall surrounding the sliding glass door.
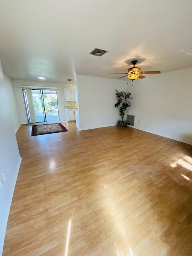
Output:
<path fill-rule="evenodd" d="M 36 81 L 24 81 L 24 80 L 13 80 L 14 92 L 16 98 L 17 111 L 19 116 L 20 124 L 27 123 L 26 110 L 23 100 L 22 88 L 19 88 L 20 85 L 25 86 L 45 86 L 45 87 L 57 87 L 57 98 L 58 98 L 58 109 L 59 109 L 59 118 L 60 121 L 65 120 L 65 111 L 64 106 L 74 106 L 76 102 L 66 102 L 64 100 L 64 88 L 75 88 L 73 84 L 61 84 L 61 83 L 52 83 L 52 82 L 36 82 Z"/>

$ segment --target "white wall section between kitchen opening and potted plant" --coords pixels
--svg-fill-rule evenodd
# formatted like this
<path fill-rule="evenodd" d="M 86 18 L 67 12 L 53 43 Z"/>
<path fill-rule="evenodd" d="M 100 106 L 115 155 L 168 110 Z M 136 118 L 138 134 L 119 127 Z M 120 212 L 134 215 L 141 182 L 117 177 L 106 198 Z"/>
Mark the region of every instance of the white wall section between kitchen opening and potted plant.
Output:
<path fill-rule="evenodd" d="M 126 81 L 77 75 L 79 129 L 113 126 L 119 120 L 115 89 L 125 90 Z"/>

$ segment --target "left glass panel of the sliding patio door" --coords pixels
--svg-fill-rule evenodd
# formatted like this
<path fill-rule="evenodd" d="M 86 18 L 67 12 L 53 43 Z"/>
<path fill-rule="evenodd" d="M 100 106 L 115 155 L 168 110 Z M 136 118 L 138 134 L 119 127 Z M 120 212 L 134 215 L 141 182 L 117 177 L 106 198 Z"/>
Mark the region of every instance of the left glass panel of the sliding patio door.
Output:
<path fill-rule="evenodd" d="M 36 122 L 46 122 L 42 90 L 31 90 Z"/>

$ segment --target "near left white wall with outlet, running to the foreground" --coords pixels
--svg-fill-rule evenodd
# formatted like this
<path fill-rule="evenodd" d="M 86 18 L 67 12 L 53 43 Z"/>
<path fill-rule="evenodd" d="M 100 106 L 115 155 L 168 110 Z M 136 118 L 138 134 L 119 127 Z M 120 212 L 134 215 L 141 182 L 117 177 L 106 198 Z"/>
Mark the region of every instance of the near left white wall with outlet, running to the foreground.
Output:
<path fill-rule="evenodd" d="M 8 214 L 21 161 L 12 122 L 10 81 L 6 75 L 4 81 L 0 64 L 0 179 L 3 180 L 2 172 L 6 174 L 6 180 L 2 183 L 3 188 L 0 187 L 0 255 L 2 255 Z"/>

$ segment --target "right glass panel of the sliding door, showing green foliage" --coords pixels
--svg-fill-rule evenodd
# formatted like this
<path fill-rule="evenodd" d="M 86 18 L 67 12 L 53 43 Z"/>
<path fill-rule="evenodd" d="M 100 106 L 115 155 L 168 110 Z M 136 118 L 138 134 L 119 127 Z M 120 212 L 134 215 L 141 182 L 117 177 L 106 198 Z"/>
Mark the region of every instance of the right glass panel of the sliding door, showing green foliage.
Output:
<path fill-rule="evenodd" d="M 57 91 L 56 90 L 42 90 L 44 108 L 46 114 L 46 122 L 58 122 L 59 112 L 57 103 Z"/>

